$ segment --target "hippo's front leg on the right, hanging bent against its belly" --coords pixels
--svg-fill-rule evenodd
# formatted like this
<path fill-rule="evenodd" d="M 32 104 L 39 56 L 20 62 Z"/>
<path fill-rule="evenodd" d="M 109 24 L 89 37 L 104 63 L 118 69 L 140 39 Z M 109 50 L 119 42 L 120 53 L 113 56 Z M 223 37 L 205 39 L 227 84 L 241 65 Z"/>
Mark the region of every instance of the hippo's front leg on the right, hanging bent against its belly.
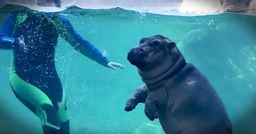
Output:
<path fill-rule="evenodd" d="M 150 120 L 158 118 L 158 108 L 164 106 L 167 103 L 166 89 L 154 89 L 150 91 L 145 101 L 144 112 Z"/>

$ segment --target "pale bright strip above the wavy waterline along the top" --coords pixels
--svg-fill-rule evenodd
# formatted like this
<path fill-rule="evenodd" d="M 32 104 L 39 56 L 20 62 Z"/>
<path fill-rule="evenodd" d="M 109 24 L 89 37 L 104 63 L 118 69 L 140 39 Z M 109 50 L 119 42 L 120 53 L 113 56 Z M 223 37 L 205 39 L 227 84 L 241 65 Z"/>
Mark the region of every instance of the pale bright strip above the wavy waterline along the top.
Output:
<path fill-rule="evenodd" d="M 0 0 L 0 11 L 39 11 L 61 12 L 70 8 L 80 9 L 111 9 L 122 8 L 153 14 L 166 15 L 194 15 L 194 14 L 220 14 L 256 13 L 256 0 L 62 0 L 62 7 L 38 6 L 36 0 Z"/>

